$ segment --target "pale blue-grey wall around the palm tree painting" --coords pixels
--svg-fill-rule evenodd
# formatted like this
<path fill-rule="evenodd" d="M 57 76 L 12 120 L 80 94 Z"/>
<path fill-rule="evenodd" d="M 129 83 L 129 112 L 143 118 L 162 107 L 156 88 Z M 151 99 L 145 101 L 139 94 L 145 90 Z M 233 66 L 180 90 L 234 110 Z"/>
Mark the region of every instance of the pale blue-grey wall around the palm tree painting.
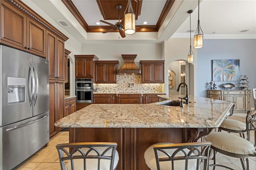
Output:
<path fill-rule="evenodd" d="M 212 59 L 240 59 L 240 75 L 247 75 L 249 88 L 256 88 L 256 39 L 204 40 L 204 47 L 198 49 L 198 96 L 206 97 L 206 89 L 212 79 Z M 237 81 L 215 81 L 217 89 L 224 89 L 224 83 L 232 83 L 238 89 Z M 252 94 L 251 94 L 252 96 Z M 253 100 L 250 102 L 253 107 Z"/>

